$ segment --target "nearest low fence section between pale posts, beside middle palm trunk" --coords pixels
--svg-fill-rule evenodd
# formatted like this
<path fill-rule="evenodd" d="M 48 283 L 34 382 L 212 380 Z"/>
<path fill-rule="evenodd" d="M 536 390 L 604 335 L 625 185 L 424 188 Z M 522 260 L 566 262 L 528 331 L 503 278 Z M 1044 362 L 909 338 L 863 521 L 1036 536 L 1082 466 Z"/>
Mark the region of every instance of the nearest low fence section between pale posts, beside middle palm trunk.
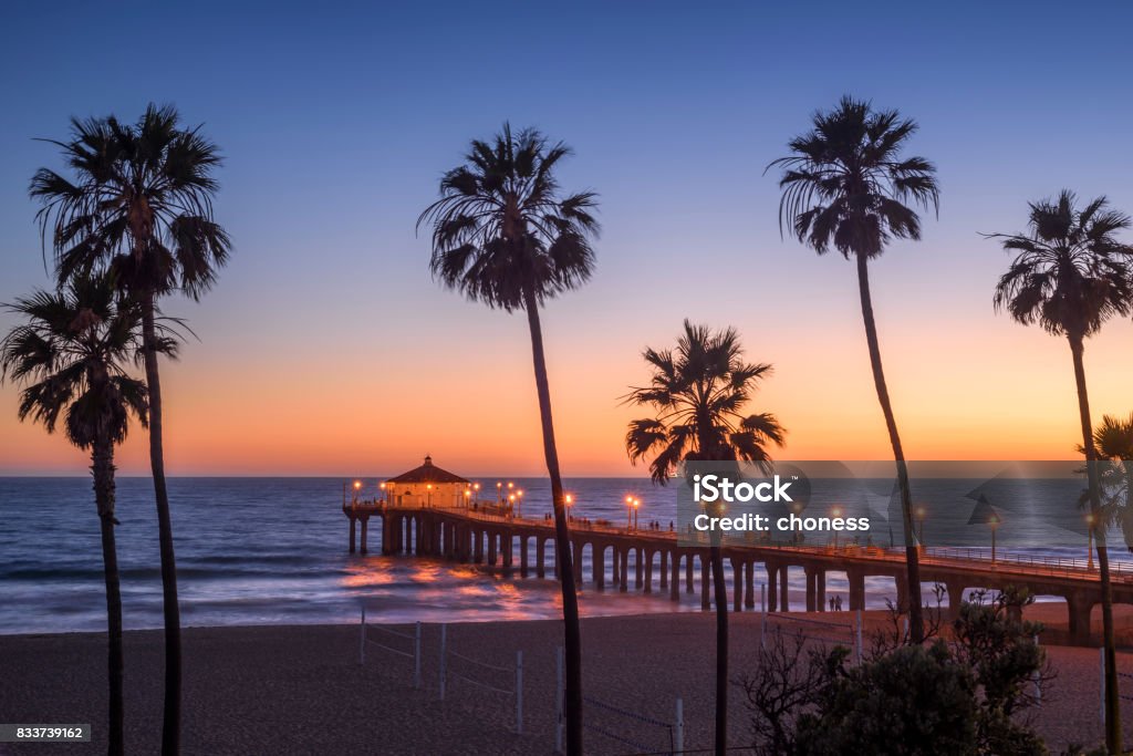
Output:
<path fill-rule="evenodd" d="M 563 734 L 565 727 L 565 677 L 563 665 L 563 648 L 559 647 L 555 655 L 555 753 L 563 753 Z M 684 754 L 684 702 L 678 696 L 673 708 L 672 721 L 653 716 L 650 713 L 617 706 L 610 702 L 582 696 L 586 706 L 586 719 L 582 729 L 616 742 L 621 747 L 632 748 L 638 754 Z"/>

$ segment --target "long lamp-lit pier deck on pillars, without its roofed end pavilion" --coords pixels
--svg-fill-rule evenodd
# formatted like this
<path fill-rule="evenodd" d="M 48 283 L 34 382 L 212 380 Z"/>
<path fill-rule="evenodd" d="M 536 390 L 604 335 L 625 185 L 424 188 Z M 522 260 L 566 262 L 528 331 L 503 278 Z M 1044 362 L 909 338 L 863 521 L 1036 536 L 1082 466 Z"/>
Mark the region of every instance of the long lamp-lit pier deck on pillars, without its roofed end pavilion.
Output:
<path fill-rule="evenodd" d="M 351 502 L 343 504 L 342 511 L 350 520 L 350 553 L 356 550 L 367 553 L 369 520 L 376 518 L 381 525 L 383 554 L 416 554 L 500 566 L 518 570 L 521 577 L 534 572 L 535 577 L 544 578 L 548 572 L 550 551 L 550 571 L 557 577 L 552 520 L 506 516 L 491 504 L 428 508 Z M 574 579 L 579 586 L 587 580 L 598 591 L 627 592 L 632 584 L 636 591 L 644 593 L 654 593 L 656 586 L 678 601 L 682 581 L 684 592 L 690 594 L 699 583 L 700 605 L 705 610 L 710 608 L 713 589 L 707 542 L 701 546 L 682 544 L 671 530 L 640 530 L 583 523 L 577 518 L 571 523 L 570 540 Z M 590 557 L 589 576 L 583 575 L 583 555 L 587 554 Z M 761 545 L 731 538 L 724 542 L 723 555 L 732 568 L 730 601 L 738 612 L 755 609 L 757 564 L 766 572 L 766 580 L 761 583 L 767 585 L 767 609 L 772 612 L 791 609 L 787 585 L 792 569 L 801 569 L 806 575 L 807 611 L 826 610 L 826 574 L 829 571 L 845 572 L 850 581 L 851 611 L 864 609 L 867 577 L 892 578 L 898 605 L 908 603 L 903 549 Z M 1122 567 L 1125 566 L 1115 564 L 1111 571 L 1114 602 L 1133 603 L 1133 569 L 1123 570 Z M 1037 596 L 1062 596 L 1066 600 L 1071 638 L 1083 645 L 1090 638 L 1090 612 L 1101 601 L 1098 572 L 1080 564 L 1080 560 L 1000 557 L 993 561 L 976 550 L 928 549 L 921 557 L 921 580 L 945 586 L 951 617 L 959 612 L 960 602 L 955 598 L 969 588 L 1017 586 Z"/>

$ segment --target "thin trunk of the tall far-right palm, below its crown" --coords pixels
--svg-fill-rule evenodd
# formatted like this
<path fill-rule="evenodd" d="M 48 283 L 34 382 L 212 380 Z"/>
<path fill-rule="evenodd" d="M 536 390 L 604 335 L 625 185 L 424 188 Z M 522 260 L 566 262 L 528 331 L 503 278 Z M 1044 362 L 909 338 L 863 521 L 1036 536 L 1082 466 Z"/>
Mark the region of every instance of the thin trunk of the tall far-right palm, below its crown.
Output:
<path fill-rule="evenodd" d="M 1102 523 L 1101 496 L 1098 485 L 1098 452 L 1093 447 L 1093 424 L 1090 422 L 1090 397 L 1085 389 L 1085 350 L 1082 337 L 1070 337 L 1070 351 L 1074 357 L 1074 382 L 1077 385 L 1077 411 L 1082 421 L 1082 445 L 1085 448 L 1085 468 L 1090 485 L 1090 511 L 1096 523 Z M 1122 753 L 1121 699 L 1117 689 L 1117 652 L 1114 645 L 1114 594 L 1109 584 L 1109 550 L 1106 547 L 1105 528 L 1097 532 L 1098 574 L 1101 577 L 1101 634 L 1106 659 L 1106 748 L 1110 754 Z"/>

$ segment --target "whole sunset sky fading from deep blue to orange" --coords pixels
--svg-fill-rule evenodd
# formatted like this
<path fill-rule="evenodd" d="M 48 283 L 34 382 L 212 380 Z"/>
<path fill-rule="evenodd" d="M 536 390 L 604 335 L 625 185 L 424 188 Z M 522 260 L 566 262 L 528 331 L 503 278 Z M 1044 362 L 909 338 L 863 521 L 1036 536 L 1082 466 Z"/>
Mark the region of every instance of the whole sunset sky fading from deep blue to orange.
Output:
<path fill-rule="evenodd" d="M 530 341 L 442 289 L 415 233 L 468 142 L 535 126 L 600 195 L 593 280 L 547 304 L 564 475 L 644 473 L 621 404 L 646 346 L 734 325 L 774 375 L 753 411 L 781 459 L 885 459 L 853 265 L 778 228 L 767 163 L 844 93 L 920 124 L 939 216 L 872 265 L 912 459 L 1059 459 L 1081 441 L 1070 350 L 991 306 L 1020 231 L 1063 187 L 1133 211 L 1133 7 L 908 2 L 11 2 L 0 10 L 0 301 L 50 286 L 27 185 L 71 116 L 173 103 L 225 156 L 235 253 L 199 340 L 162 366 L 171 475 L 539 475 Z M 1133 243 L 1133 233 L 1125 240 Z M 0 332 L 16 321 L 0 314 Z M 1133 410 L 1133 322 L 1087 346 L 1096 418 Z M 0 387 L 0 475 L 82 474 Z M 119 450 L 148 469 L 145 432 Z"/>

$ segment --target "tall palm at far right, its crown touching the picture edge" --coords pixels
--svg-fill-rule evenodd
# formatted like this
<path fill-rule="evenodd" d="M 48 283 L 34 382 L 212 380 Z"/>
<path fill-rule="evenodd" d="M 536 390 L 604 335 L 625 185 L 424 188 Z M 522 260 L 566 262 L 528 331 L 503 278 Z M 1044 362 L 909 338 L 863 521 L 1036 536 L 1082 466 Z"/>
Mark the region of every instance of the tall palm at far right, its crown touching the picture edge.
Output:
<path fill-rule="evenodd" d="M 1089 479 L 1090 511 L 1100 520 L 1098 451 L 1090 421 L 1083 354 L 1085 339 L 1097 333 L 1113 315 L 1133 309 L 1133 247 L 1117 240 L 1130 228 L 1128 215 L 1111 210 L 1105 197 L 1077 207 L 1073 192 L 1057 199 L 1030 203 L 1024 233 L 990 233 L 1005 252 L 1015 255 L 995 291 L 996 311 L 1006 309 L 1024 325 L 1038 323 L 1053 335 L 1065 337 L 1074 362 L 1079 419 Z M 1099 535 L 1102 532 L 1099 530 Z M 1106 746 L 1121 753 L 1121 716 L 1114 651 L 1113 593 L 1109 557 L 1099 537 L 1098 571 L 1101 577 L 1101 618 L 1106 657 Z"/>

